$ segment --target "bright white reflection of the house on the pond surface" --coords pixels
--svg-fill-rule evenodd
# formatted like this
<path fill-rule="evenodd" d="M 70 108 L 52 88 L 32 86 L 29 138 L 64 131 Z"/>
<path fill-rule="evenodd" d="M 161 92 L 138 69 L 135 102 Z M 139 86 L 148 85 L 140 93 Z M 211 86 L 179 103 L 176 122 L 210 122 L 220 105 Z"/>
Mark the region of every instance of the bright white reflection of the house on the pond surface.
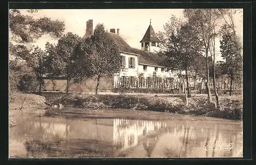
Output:
<path fill-rule="evenodd" d="M 156 133 L 166 128 L 167 124 L 159 121 L 114 119 L 113 122 L 113 146 L 119 150 L 134 147 L 139 143 L 139 137 L 146 134 Z M 148 137 L 151 138 L 151 137 Z M 148 139 L 147 138 L 147 139 Z M 157 139 L 157 137 L 154 137 Z M 148 146 L 149 141 L 143 141 Z"/>

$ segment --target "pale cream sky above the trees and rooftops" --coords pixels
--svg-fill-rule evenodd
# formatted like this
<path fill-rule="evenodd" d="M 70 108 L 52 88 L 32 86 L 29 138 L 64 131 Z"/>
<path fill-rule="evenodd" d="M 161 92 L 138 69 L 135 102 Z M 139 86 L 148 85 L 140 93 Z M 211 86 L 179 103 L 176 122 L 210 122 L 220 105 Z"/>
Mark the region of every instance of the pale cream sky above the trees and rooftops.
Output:
<path fill-rule="evenodd" d="M 183 17 L 183 9 L 43 9 L 38 13 L 28 13 L 21 10 L 24 14 L 33 15 L 35 18 L 51 17 L 65 21 L 65 32 L 72 32 L 80 37 L 86 34 L 86 22 L 93 19 L 93 27 L 98 23 L 103 23 L 105 29 L 120 29 L 119 35 L 131 46 L 141 48 L 140 40 L 143 38 L 148 25 L 153 26 L 154 31 L 163 32 L 163 25 L 172 15 Z M 237 33 L 242 36 L 243 20 L 237 16 L 234 20 L 237 26 Z M 34 45 L 45 49 L 46 42 L 57 43 L 49 35 L 42 36 Z M 216 41 L 217 60 L 220 57 L 220 41 Z"/>

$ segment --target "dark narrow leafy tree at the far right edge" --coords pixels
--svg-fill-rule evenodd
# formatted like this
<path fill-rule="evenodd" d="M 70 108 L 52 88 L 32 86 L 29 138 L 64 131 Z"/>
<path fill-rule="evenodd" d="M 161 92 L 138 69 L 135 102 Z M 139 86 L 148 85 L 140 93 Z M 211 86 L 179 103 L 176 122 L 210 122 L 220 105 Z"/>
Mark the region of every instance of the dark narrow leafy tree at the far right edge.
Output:
<path fill-rule="evenodd" d="M 222 38 L 221 43 L 221 57 L 225 61 L 220 62 L 220 66 L 230 78 L 230 91 L 231 96 L 232 84 L 236 78 L 240 78 L 243 70 L 243 59 L 241 56 L 242 44 L 239 37 L 234 34 L 227 24 L 222 26 Z"/>

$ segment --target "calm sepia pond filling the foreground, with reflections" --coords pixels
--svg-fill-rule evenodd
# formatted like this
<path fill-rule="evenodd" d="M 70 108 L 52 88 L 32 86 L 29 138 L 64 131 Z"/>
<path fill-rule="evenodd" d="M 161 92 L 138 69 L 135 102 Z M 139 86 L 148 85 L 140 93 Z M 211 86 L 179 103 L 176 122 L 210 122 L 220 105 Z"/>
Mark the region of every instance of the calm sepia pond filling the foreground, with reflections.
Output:
<path fill-rule="evenodd" d="M 10 158 L 243 157 L 240 121 L 68 108 L 16 123 L 9 129 Z"/>

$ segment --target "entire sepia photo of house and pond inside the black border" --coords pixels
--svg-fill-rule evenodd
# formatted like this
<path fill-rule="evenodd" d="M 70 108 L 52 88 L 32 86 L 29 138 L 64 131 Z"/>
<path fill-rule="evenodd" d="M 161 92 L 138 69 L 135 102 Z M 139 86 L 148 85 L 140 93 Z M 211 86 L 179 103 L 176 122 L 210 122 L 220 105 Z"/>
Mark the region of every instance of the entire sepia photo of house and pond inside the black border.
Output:
<path fill-rule="evenodd" d="M 9 158 L 243 158 L 243 9 L 10 9 Z"/>

